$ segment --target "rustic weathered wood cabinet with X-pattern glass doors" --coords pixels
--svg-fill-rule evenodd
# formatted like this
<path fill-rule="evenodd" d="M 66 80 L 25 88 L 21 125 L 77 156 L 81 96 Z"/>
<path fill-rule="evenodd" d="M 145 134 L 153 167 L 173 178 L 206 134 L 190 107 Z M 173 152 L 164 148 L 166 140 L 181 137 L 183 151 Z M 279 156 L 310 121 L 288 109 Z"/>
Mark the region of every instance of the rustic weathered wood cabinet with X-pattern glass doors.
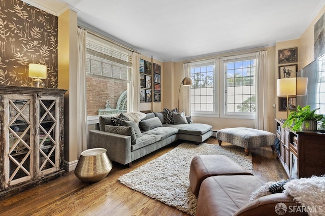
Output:
<path fill-rule="evenodd" d="M 64 173 L 65 92 L 0 86 L 0 198 Z"/>

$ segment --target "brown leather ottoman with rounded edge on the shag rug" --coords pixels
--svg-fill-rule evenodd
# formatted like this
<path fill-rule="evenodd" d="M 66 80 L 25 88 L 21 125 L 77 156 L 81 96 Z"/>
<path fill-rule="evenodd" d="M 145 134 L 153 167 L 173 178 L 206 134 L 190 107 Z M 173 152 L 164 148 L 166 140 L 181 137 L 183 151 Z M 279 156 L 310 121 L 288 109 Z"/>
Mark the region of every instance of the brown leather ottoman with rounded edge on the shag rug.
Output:
<path fill-rule="evenodd" d="M 252 173 L 224 155 L 195 156 L 189 169 L 189 183 L 193 194 L 198 196 L 203 180 L 216 175 L 252 175 Z"/>

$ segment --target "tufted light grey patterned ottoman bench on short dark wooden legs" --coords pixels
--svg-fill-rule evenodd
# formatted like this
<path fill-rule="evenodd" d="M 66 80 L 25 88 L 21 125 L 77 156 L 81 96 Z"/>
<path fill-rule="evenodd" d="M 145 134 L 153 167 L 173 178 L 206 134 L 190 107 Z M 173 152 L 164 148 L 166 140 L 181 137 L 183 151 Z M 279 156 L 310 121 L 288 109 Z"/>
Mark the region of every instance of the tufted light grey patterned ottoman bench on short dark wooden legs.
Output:
<path fill-rule="evenodd" d="M 275 134 L 264 130 L 246 127 L 225 128 L 217 131 L 216 138 L 220 146 L 221 142 L 225 141 L 243 147 L 246 155 L 249 154 L 249 149 L 263 146 L 271 146 L 272 151 L 275 150 Z"/>

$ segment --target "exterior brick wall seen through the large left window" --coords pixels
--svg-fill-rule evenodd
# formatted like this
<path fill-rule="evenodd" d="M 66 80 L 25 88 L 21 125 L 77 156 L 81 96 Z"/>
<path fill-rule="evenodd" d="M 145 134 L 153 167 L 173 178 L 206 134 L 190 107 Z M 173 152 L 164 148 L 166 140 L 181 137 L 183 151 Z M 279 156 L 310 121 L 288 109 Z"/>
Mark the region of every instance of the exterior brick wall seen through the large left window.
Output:
<path fill-rule="evenodd" d="M 106 100 L 111 109 L 116 109 L 116 102 L 126 89 L 126 82 L 87 76 L 87 115 L 97 116 L 98 110 L 105 109 Z"/>

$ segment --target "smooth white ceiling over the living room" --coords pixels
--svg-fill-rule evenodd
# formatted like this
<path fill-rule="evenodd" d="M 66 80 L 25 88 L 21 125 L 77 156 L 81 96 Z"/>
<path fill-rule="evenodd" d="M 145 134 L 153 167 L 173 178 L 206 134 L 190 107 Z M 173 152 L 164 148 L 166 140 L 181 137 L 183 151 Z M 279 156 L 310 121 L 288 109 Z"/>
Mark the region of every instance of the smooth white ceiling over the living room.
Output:
<path fill-rule="evenodd" d="M 274 46 L 298 39 L 325 0 L 25 0 L 162 61 Z M 66 4 L 65 4 L 66 3 Z"/>

